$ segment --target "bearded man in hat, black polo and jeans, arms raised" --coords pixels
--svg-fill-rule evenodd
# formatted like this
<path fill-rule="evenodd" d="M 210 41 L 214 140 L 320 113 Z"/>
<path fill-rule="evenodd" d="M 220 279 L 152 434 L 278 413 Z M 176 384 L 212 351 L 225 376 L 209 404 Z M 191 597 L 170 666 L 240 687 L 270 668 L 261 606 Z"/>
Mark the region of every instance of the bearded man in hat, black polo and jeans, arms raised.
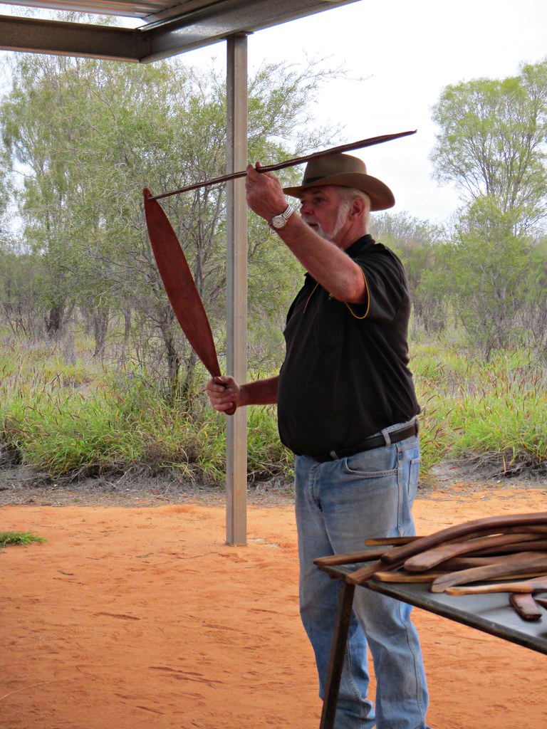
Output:
<path fill-rule="evenodd" d="M 414 534 L 419 469 L 408 370 L 408 284 L 395 254 L 368 235 L 370 211 L 395 198 L 350 155 L 311 160 L 299 187 L 247 168 L 247 203 L 306 269 L 287 315 L 279 376 L 240 386 L 207 385 L 214 408 L 278 405 L 279 434 L 295 454 L 300 615 L 314 648 L 323 695 L 338 581 L 314 558 L 362 550 L 364 540 Z M 300 200 L 300 217 L 284 193 Z M 427 709 L 411 607 L 358 589 L 336 729 L 424 729 Z M 368 701 L 367 644 L 376 674 Z"/>

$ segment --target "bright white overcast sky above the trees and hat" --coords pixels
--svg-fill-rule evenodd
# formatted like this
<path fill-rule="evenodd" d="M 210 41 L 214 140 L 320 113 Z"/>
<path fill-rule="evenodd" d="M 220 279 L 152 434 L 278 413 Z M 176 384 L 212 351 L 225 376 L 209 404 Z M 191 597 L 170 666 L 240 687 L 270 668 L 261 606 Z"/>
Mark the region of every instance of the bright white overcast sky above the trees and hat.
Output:
<path fill-rule="evenodd" d="M 225 63 L 224 46 L 189 52 L 185 60 Z M 458 198 L 431 177 L 431 107 L 446 85 L 505 78 L 523 61 L 546 58 L 547 1 L 360 0 L 249 36 L 249 69 L 263 59 L 303 62 L 318 55 L 332 57 L 332 66 L 345 63 L 350 77 L 366 80 L 328 82 L 317 120 L 343 123 L 341 144 L 417 129 L 414 136 L 352 154 L 392 187 L 392 212 L 441 222 Z"/>

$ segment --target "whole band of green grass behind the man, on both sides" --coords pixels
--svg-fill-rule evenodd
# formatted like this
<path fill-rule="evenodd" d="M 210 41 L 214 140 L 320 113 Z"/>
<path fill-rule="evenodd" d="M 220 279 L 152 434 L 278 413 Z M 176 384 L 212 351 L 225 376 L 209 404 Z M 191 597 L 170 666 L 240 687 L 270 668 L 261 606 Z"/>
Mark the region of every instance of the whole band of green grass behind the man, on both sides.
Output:
<path fill-rule="evenodd" d="M 443 459 L 488 476 L 547 472 L 547 367 L 524 351 L 484 362 L 446 343 L 413 347 L 422 405 L 422 472 Z M 201 384 L 206 373 L 199 373 Z M 249 483 L 292 480 L 276 409 L 248 408 Z M 53 345 L 6 340 L 0 354 L 0 460 L 56 480 L 128 471 L 225 480 L 225 416 L 198 383 L 166 397 L 155 375 L 104 367 L 82 354 L 67 362 Z"/>

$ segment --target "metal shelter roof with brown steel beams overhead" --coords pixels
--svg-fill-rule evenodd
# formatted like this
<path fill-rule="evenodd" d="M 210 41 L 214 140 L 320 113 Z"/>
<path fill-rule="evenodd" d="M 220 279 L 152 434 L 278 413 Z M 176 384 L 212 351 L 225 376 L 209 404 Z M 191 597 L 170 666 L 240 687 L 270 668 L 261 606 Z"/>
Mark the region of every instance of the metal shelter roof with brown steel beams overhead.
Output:
<path fill-rule="evenodd" d="M 0 14 L 0 49 L 156 61 L 360 0 L 15 0 L 20 7 L 140 18 L 137 28 Z M 0 0 L 1 5 L 13 2 Z"/>

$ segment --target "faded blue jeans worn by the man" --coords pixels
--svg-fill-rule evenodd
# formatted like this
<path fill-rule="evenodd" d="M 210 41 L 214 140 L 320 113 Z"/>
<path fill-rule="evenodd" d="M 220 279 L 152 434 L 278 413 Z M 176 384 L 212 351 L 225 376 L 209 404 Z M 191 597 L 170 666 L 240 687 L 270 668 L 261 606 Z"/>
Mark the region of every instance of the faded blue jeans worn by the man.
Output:
<path fill-rule="evenodd" d="M 321 698 L 339 582 L 320 572 L 314 558 L 363 550 L 372 537 L 414 535 L 411 507 L 418 472 L 418 436 L 337 461 L 296 459 L 300 615 L 314 648 Z M 410 605 L 355 590 L 335 729 L 426 728 L 427 685 L 410 614 Z M 367 698 L 367 644 L 376 675 L 376 713 Z"/>

